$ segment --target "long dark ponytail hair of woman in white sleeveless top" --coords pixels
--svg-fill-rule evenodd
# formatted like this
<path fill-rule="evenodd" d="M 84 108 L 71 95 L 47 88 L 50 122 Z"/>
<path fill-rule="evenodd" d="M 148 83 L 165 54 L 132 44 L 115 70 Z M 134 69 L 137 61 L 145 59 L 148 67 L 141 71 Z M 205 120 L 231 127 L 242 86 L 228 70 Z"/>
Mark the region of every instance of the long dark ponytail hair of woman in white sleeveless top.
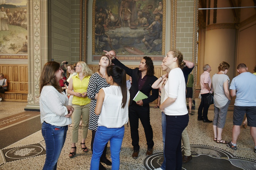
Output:
<path fill-rule="evenodd" d="M 124 108 L 127 102 L 126 72 L 116 65 L 111 65 L 107 67 L 107 75 L 111 76 L 113 81 L 121 87 L 123 96 L 122 108 Z"/>

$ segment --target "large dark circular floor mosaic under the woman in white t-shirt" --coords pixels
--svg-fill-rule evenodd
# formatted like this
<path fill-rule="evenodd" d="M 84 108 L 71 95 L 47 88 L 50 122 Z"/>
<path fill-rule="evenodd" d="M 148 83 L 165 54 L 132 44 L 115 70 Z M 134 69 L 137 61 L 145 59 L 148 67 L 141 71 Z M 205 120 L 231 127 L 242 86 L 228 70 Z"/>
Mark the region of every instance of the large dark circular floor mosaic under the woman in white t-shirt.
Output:
<path fill-rule="evenodd" d="M 182 164 L 184 170 L 241 170 L 256 169 L 256 161 L 246 158 L 236 158 L 231 153 L 219 148 L 204 145 L 191 145 L 192 160 Z M 182 148 L 183 149 L 183 148 Z M 252 151 L 252 154 L 253 151 Z M 164 160 L 162 152 L 155 153 L 144 159 L 144 168 L 153 170 L 159 168 Z"/>

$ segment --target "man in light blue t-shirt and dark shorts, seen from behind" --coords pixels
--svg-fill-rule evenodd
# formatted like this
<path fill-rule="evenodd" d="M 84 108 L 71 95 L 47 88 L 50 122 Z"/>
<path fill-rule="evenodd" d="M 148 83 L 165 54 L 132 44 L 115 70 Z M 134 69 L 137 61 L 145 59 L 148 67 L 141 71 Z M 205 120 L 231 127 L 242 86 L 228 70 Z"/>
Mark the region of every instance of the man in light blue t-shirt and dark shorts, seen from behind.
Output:
<path fill-rule="evenodd" d="M 246 113 L 248 126 L 254 140 L 254 152 L 256 153 L 256 76 L 247 72 L 248 68 L 244 63 L 237 67 L 239 73 L 230 84 L 231 96 L 236 96 L 233 113 L 233 134 L 232 141 L 227 144 L 231 149 L 236 150 L 236 140 L 240 134 L 240 126 Z"/>

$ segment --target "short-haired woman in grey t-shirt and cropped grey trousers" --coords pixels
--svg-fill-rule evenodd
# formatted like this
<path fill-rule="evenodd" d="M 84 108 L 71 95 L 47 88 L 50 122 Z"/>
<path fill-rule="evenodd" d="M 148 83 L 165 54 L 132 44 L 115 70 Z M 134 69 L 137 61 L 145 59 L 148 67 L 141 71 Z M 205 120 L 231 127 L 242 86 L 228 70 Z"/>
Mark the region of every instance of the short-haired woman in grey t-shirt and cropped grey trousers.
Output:
<path fill-rule="evenodd" d="M 230 65 L 223 61 L 219 64 L 219 72 L 212 77 L 212 87 L 214 91 L 214 118 L 213 118 L 213 132 L 214 140 L 217 143 L 227 144 L 222 138 L 222 130 L 226 123 L 226 115 L 228 113 L 228 106 L 231 100 L 229 93 L 230 79 L 226 75 Z"/>

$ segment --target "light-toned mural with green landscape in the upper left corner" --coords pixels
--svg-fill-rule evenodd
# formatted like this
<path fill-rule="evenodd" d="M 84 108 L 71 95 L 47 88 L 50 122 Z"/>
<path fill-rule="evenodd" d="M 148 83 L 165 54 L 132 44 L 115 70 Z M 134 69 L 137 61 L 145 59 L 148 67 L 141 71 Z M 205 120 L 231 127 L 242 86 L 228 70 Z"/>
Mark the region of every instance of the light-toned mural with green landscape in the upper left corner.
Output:
<path fill-rule="evenodd" d="M 27 55 L 27 1 L 0 0 L 0 54 Z"/>

